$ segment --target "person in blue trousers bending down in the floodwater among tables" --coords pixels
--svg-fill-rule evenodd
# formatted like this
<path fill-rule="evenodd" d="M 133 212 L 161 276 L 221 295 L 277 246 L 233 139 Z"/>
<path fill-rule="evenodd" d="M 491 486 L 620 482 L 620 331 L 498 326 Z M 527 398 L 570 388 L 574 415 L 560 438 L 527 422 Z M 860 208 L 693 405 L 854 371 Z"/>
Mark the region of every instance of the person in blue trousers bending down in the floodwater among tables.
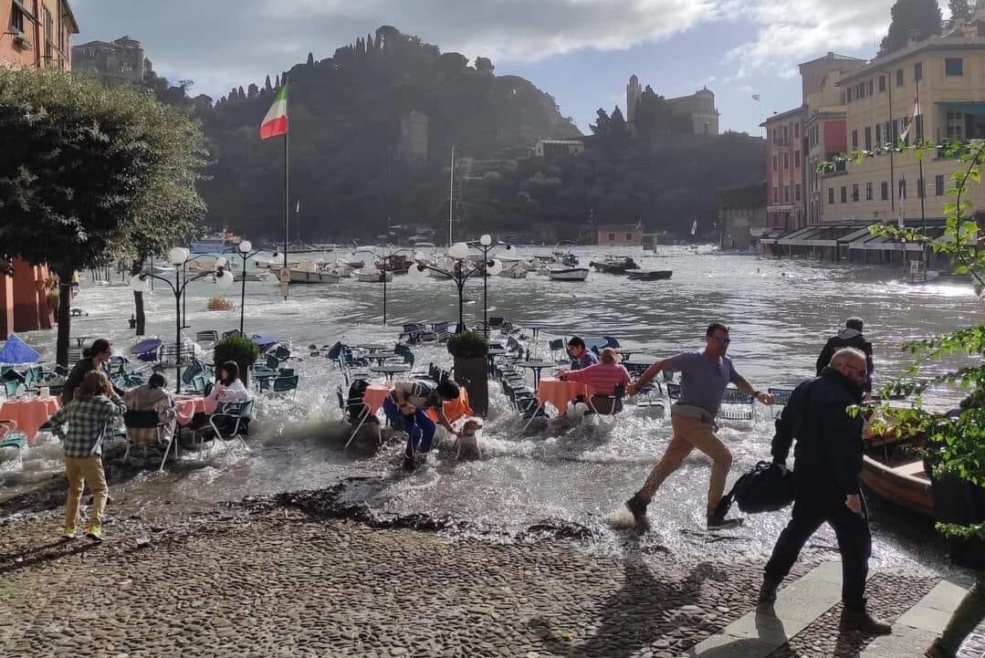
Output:
<path fill-rule="evenodd" d="M 457 400 L 458 385 L 450 379 L 431 387 L 422 381 L 398 381 L 383 400 L 383 413 L 397 429 L 407 432 L 407 449 L 404 452 L 404 468 L 414 470 L 414 456 L 427 454 L 434 439 L 434 423 L 427 418 L 427 409 L 437 413 L 437 422 L 455 436 L 461 433 L 451 427 L 444 417 L 445 401 Z"/>

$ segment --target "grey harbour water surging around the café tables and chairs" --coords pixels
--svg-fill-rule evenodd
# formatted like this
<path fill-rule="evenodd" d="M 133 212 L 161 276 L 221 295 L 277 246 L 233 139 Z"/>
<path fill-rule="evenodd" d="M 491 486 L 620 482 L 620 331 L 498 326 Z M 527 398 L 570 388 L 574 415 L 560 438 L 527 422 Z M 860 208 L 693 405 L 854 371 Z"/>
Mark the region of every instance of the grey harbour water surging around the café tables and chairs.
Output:
<path fill-rule="evenodd" d="M 546 253 L 550 248 L 519 251 Z M 614 251 L 640 258 L 638 249 Z M 602 256 L 598 248 L 576 252 L 585 265 Z M 505 316 L 521 326 L 542 325 L 540 348 L 545 353 L 550 337 L 609 335 L 637 351 L 634 362 L 700 349 L 706 325 L 724 321 L 732 329 L 730 355 L 737 369 L 765 389 L 789 387 L 810 376 L 824 340 L 847 316 L 865 318 L 866 335 L 875 344 L 877 377 L 885 381 L 906 362 L 898 348 L 901 341 L 977 322 L 980 309 L 969 286 L 910 286 L 902 271 L 886 267 L 695 253 L 687 247 L 658 247 L 642 265 L 673 270 L 673 279 L 632 282 L 594 271 L 584 283 L 551 282 L 534 273 L 520 280 L 491 278 L 489 315 Z M 238 308 L 206 310 L 208 298 L 217 294 L 208 282 L 189 285 L 188 332 L 238 326 Z M 227 295 L 238 306 L 239 284 Z M 482 280 L 469 281 L 465 296 L 466 321 L 474 324 L 483 314 Z M 652 411 L 628 405 L 615 423 L 592 420 L 570 430 L 524 431 L 491 382 L 481 460 L 431 455 L 426 468 L 405 476 L 399 472 L 399 442 L 371 456 L 340 449 L 338 436 L 344 426 L 335 391 L 342 374 L 325 359 L 309 358 L 307 346 L 392 343 L 405 322 L 445 318 L 454 323 L 457 316 L 456 289 L 447 280 L 413 272 L 389 284 L 386 297 L 384 326 L 383 288 L 378 284 L 344 280 L 338 285 L 296 286 L 284 300 L 276 283 L 247 283 L 246 332 L 273 334 L 303 358 L 293 363 L 301 377 L 296 396 L 259 398 L 248 453 L 220 456 L 198 468 L 171 469 L 164 475 L 147 471 L 117 485 L 113 494 L 166 498 L 193 509 L 246 495 L 368 478 L 347 495 L 380 516 L 447 515 L 465 522 L 466 532 L 497 541 L 515 539 L 533 526 L 577 527 L 593 538 L 589 544 L 595 549 L 618 545 L 622 531 L 614 521 L 625 516 L 620 511 L 623 500 L 642 484 L 670 438 L 669 420 Z M 118 279 L 110 286 L 84 282 L 73 305 L 89 313 L 74 318 L 73 335 L 109 335 L 118 353 L 136 342 L 127 329 L 132 295 Z M 174 297 L 161 283 L 149 296 L 148 314 L 148 334 L 173 340 Z M 53 332 L 35 332 L 28 338 L 50 358 Z M 413 350 L 419 365 L 450 366 L 443 347 Z M 949 402 L 940 400 L 944 406 Z M 756 461 L 769 458 L 772 418 L 770 409 L 757 404 L 753 422 L 721 424 L 720 436 L 735 457 L 730 483 Z M 57 444 L 48 443 L 0 464 L 0 499 L 50 480 L 60 471 L 58 458 Z M 191 463 L 200 458 L 182 459 Z M 709 462 L 703 456 L 689 457 L 650 505 L 653 525 L 644 544 L 682 557 L 714 553 L 764 559 L 786 513 L 750 517 L 722 541 L 709 537 L 701 531 L 708 475 Z M 941 545 L 926 524 L 878 501 L 872 504 L 872 520 L 876 564 L 943 562 Z M 808 551 L 829 552 L 834 547 L 833 535 L 822 531 Z"/>

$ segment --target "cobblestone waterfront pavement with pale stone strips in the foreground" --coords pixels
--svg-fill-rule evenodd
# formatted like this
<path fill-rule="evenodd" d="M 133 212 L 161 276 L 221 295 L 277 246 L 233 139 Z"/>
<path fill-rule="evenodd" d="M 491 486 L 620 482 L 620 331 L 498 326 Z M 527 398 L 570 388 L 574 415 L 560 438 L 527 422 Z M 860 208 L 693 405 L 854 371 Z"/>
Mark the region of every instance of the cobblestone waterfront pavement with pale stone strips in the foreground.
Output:
<path fill-rule="evenodd" d="M 631 533 L 610 556 L 496 545 L 296 502 L 114 502 L 99 546 L 57 542 L 60 510 L 8 520 L 0 655 L 897 658 L 921 655 L 960 595 L 931 573 L 874 573 L 894 633 L 873 639 L 837 631 L 836 562 L 799 565 L 774 618 L 755 615 L 758 561 L 641 552 Z"/>

